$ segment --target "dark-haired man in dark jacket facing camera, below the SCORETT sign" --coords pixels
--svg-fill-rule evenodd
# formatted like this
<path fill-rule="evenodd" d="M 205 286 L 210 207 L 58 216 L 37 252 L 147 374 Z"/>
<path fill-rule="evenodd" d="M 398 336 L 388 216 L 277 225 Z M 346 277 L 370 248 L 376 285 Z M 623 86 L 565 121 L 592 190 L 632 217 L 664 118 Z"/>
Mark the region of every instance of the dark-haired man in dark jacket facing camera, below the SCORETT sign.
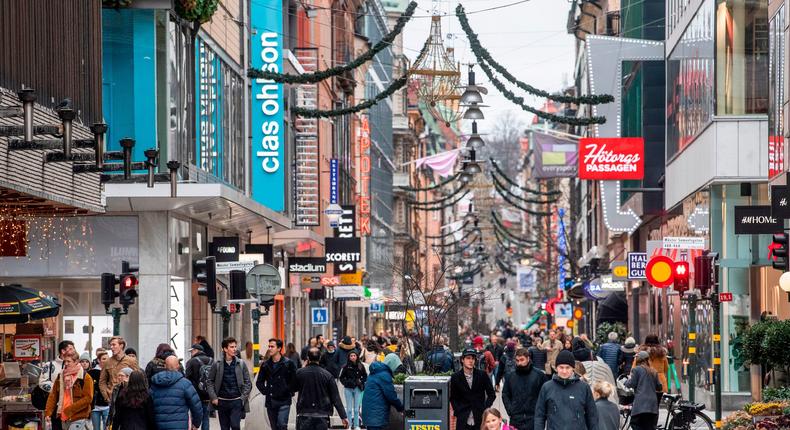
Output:
<path fill-rule="evenodd" d="M 269 358 L 258 371 L 255 386 L 266 396 L 266 415 L 272 430 L 287 430 L 291 413 L 291 386 L 296 377 L 296 363 L 282 355 L 283 341 L 269 339 Z"/>

